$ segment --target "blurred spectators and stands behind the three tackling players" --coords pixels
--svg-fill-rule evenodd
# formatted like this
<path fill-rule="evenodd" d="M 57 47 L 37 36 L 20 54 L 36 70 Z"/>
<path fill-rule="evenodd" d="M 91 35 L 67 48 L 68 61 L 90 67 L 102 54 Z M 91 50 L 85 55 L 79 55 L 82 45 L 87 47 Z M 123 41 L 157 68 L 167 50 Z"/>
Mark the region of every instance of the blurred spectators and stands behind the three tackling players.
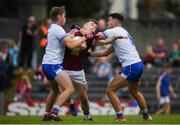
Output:
<path fill-rule="evenodd" d="M 61 5 L 67 10 L 67 31 L 72 24 L 81 25 L 88 18 L 97 19 L 97 31 L 104 31 L 109 13 L 125 16 L 123 25 L 132 34 L 145 64 L 142 91 L 152 112 L 158 104 L 153 102 L 156 82 L 167 64 L 173 67 L 172 85 L 180 95 L 179 0 L 0 0 L 0 100 L 2 94 L 5 100 L 27 101 L 29 105 L 36 99 L 45 100 L 49 89 L 41 61 L 52 23 L 49 10 Z M 92 49 L 101 51 L 107 47 Z M 106 85 L 121 68 L 117 58 L 89 57 L 85 63 L 90 100 L 106 99 Z M 131 98 L 126 92 L 119 91 L 121 98 Z M 180 101 L 174 105 L 178 107 Z"/>

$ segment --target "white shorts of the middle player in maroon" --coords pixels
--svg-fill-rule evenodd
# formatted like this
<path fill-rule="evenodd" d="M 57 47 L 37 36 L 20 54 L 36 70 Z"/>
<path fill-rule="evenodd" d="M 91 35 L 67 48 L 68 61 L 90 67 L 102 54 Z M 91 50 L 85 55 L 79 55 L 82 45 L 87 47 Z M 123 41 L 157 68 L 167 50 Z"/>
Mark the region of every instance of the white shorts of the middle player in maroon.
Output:
<path fill-rule="evenodd" d="M 80 71 L 65 70 L 65 71 L 71 78 L 72 83 L 82 84 L 82 85 L 87 84 L 84 70 L 80 70 Z"/>

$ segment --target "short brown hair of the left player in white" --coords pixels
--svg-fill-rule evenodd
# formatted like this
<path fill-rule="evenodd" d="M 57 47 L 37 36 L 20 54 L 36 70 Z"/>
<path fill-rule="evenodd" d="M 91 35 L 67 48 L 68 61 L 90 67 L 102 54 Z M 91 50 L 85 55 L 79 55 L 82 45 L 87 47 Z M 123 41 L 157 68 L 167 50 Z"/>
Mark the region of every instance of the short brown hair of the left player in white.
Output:
<path fill-rule="evenodd" d="M 50 17 L 52 20 L 56 20 L 56 17 L 58 15 L 62 15 L 63 13 L 66 13 L 65 7 L 53 7 L 50 11 Z"/>

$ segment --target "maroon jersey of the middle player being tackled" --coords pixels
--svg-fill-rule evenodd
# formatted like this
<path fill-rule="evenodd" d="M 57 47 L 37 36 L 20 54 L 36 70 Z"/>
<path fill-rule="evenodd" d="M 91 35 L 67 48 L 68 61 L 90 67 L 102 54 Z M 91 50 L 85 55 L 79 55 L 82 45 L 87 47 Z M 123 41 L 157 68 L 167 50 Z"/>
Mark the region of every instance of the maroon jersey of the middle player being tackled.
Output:
<path fill-rule="evenodd" d="M 74 36 L 82 36 L 82 34 L 77 31 L 74 33 Z M 69 49 L 66 47 L 63 60 L 63 67 L 65 70 L 79 71 L 84 69 L 84 59 L 87 56 L 89 48 L 92 47 L 93 40 L 94 39 L 87 41 L 87 48 L 85 50 L 74 51 L 73 49 Z"/>

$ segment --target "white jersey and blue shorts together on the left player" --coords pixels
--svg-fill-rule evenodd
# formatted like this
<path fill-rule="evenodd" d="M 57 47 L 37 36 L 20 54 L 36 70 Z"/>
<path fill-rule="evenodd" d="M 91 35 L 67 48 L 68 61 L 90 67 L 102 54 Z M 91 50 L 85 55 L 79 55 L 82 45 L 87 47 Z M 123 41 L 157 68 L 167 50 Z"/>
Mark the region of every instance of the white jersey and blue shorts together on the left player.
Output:
<path fill-rule="evenodd" d="M 57 73 L 64 70 L 61 64 L 64 60 L 63 40 L 66 36 L 64 29 L 57 24 L 51 24 L 48 29 L 46 51 L 42 61 L 42 70 L 48 80 L 53 80 Z"/>

